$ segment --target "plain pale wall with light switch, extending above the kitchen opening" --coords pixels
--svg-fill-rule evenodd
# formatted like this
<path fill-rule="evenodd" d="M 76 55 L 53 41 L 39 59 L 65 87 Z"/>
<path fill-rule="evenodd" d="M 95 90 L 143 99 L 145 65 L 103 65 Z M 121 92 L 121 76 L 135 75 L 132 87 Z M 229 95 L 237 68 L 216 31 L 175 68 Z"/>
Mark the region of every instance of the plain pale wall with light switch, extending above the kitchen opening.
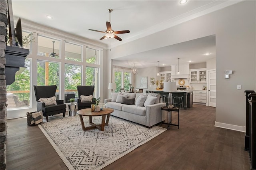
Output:
<path fill-rule="evenodd" d="M 255 1 L 243 1 L 120 45 L 107 55 L 113 59 L 210 35 L 216 35 L 216 123 L 242 130 L 244 90 L 256 89 Z M 234 71 L 230 79 L 224 79 L 224 70 Z M 236 85 L 242 85 L 242 90 L 236 90 Z"/>

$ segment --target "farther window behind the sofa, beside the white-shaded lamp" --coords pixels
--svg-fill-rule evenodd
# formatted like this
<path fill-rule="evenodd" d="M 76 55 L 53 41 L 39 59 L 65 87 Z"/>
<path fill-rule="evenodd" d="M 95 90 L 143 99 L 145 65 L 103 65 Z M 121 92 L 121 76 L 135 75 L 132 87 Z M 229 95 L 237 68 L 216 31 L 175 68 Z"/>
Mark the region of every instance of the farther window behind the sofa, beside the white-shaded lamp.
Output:
<path fill-rule="evenodd" d="M 131 73 L 130 71 L 114 69 L 114 82 L 116 83 L 116 91 L 119 92 L 120 88 L 124 88 L 125 91 L 130 90 Z"/>

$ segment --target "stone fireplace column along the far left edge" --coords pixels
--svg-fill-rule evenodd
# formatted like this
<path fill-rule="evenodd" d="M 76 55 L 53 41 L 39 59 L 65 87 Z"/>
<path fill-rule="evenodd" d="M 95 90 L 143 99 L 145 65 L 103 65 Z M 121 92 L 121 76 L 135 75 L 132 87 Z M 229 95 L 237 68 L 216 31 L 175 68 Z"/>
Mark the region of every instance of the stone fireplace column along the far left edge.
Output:
<path fill-rule="evenodd" d="M 5 49 L 6 49 L 6 27 L 8 25 L 7 0 L 0 0 L 0 166 L 6 169 L 6 78 L 5 78 Z"/>

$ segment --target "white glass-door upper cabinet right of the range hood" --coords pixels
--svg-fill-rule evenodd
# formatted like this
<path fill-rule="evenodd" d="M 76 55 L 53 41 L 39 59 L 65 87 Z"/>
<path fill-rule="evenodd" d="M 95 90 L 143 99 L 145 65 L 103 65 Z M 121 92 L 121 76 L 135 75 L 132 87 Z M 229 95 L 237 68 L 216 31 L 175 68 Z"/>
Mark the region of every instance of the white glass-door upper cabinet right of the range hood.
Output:
<path fill-rule="evenodd" d="M 206 69 L 190 69 L 190 83 L 206 83 Z"/>

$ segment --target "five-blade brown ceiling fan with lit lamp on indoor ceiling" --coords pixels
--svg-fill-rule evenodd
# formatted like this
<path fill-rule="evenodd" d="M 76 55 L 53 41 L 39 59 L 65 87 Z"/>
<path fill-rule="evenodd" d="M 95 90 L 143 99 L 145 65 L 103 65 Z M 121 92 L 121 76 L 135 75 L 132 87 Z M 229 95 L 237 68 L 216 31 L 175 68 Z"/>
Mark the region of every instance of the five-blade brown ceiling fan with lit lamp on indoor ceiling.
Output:
<path fill-rule="evenodd" d="M 122 39 L 120 37 L 116 36 L 115 34 L 125 34 L 125 33 L 129 33 L 130 31 L 129 30 L 124 30 L 124 31 L 114 31 L 114 30 L 112 30 L 111 24 L 110 24 L 110 13 L 112 11 L 113 11 L 112 9 L 108 9 L 108 12 L 109 12 L 109 22 L 106 22 L 107 30 L 105 32 L 104 31 L 98 31 L 98 30 L 92 30 L 92 29 L 89 29 L 89 30 L 90 31 L 96 31 L 96 32 L 105 33 L 106 35 L 103 36 L 102 38 L 100 38 L 100 40 L 103 40 L 105 38 L 115 38 L 116 40 L 122 41 Z"/>

